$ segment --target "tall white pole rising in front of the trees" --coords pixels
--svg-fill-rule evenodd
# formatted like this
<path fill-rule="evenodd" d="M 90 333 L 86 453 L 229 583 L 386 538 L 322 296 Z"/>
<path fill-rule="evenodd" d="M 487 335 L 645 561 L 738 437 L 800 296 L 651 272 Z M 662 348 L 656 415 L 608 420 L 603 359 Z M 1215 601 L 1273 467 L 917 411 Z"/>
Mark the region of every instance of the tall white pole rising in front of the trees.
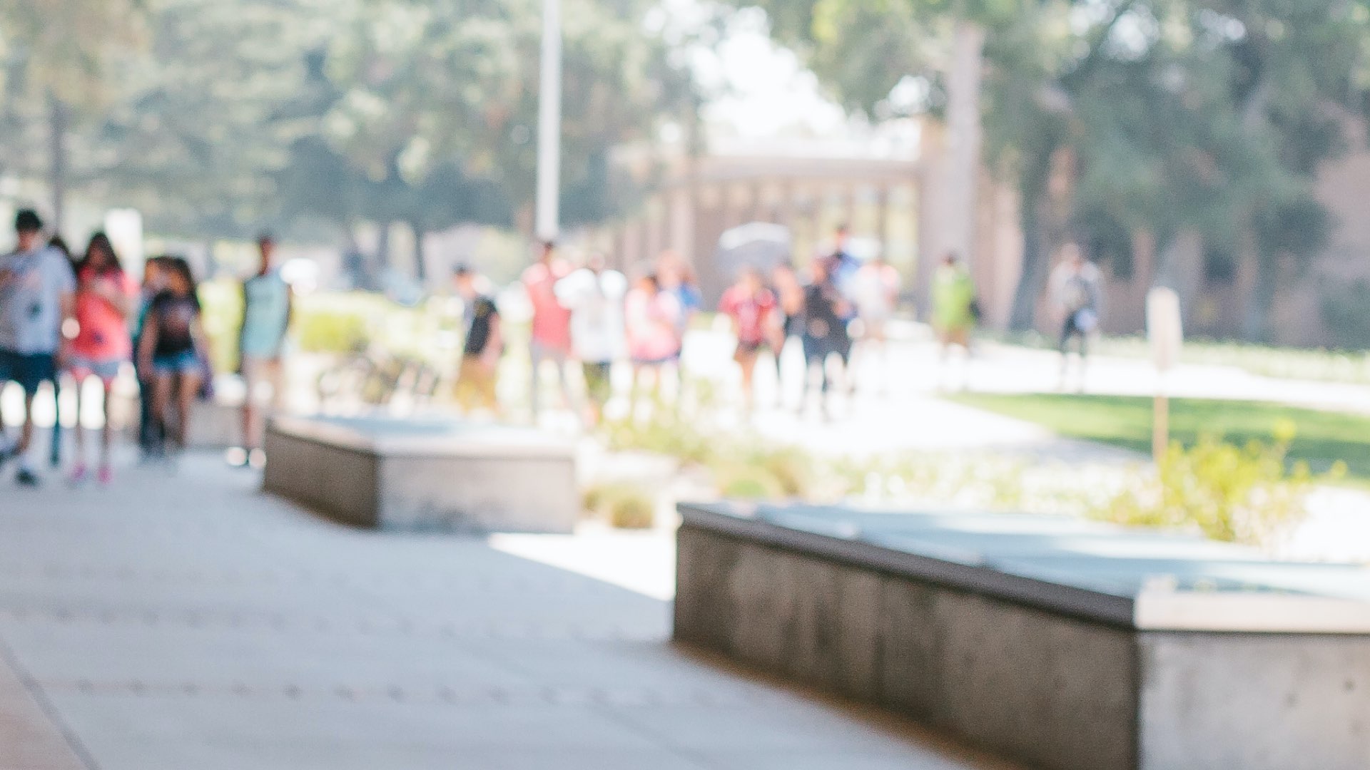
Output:
<path fill-rule="evenodd" d="M 544 241 L 560 232 L 562 0 L 543 0 L 543 70 L 537 114 L 537 221 Z"/>

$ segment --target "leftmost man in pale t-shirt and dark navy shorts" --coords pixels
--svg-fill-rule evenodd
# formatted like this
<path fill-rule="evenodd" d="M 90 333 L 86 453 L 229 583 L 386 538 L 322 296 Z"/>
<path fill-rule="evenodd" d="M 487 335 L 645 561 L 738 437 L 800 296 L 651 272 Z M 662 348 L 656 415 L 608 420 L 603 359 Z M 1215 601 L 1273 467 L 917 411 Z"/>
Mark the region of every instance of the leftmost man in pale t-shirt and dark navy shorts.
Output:
<path fill-rule="evenodd" d="M 36 486 L 33 397 L 38 385 L 56 380 L 62 326 L 75 311 L 75 275 L 67 258 L 41 240 L 36 211 L 19 211 L 14 229 L 18 245 L 0 259 L 0 385 L 14 381 L 23 389 L 23 426 L 14 441 L 0 419 L 0 464 L 18 459 L 15 481 Z"/>

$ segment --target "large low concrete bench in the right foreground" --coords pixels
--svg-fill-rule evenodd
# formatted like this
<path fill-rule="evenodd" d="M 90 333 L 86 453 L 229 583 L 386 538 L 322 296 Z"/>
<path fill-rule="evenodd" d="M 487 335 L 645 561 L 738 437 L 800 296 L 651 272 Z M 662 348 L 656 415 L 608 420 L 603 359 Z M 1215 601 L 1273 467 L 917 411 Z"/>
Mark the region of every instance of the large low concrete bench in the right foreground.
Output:
<path fill-rule="evenodd" d="M 1370 767 L 1363 567 L 1070 518 L 680 511 L 680 641 L 1033 767 Z"/>

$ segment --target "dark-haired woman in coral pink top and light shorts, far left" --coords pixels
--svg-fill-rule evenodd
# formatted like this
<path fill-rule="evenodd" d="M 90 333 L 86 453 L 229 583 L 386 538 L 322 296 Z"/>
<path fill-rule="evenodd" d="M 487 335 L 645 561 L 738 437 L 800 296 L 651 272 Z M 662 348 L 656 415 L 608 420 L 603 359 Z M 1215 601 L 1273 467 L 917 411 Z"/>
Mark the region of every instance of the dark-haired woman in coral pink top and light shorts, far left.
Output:
<path fill-rule="evenodd" d="M 71 481 L 81 482 L 86 477 L 85 430 L 81 427 L 81 385 L 90 377 L 99 377 L 100 411 L 105 415 L 100 438 L 100 482 L 108 484 L 110 471 L 110 388 L 119 375 L 119 369 L 133 356 L 133 340 L 129 334 L 129 311 L 138 293 L 137 285 L 129 278 L 114 252 L 114 244 L 104 233 L 90 237 L 85 256 L 75 264 L 77 312 L 79 326 L 71 340 L 67 356 L 67 371 L 75 380 L 77 388 L 77 463 L 71 469 Z"/>

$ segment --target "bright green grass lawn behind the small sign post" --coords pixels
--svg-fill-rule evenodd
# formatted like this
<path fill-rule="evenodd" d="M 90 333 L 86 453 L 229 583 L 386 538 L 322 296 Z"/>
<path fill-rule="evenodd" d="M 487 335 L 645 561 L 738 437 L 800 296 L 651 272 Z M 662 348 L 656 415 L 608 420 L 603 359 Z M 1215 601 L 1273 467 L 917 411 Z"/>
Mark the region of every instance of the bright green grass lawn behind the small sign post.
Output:
<path fill-rule="evenodd" d="M 967 393 L 955 401 L 1036 422 L 1062 436 L 1151 452 L 1151 399 L 1129 396 Z M 1370 481 L 1370 417 L 1303 410 L 1281 404 L 1173 399 L 1170 436 L 1185 444 L 1200 434 L 1233 443 L 1271 441 L 1275 423 L 1292 421 L 1299 433 L 1289 459 L 1307 460 L 1315 473 L 1344 460 L 1352 480 Z"/>

